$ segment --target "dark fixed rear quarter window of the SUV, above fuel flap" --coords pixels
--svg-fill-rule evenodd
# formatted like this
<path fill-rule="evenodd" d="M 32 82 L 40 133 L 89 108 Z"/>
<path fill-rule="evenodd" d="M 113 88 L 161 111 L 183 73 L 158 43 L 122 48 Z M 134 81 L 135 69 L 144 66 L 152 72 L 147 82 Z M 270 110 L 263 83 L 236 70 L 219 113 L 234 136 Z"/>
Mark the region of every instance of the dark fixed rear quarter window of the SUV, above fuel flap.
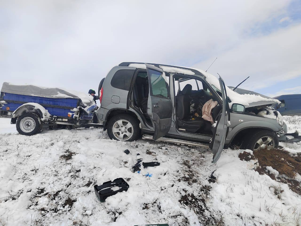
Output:
<path fill-rule="evenodd" d="M 135 70 L 127 69 L 116 71 L 111 80 L 111 86 L 117 89 L 130 90 L 130 85 L 132 77 L 134 75 L 134 71 Z"/>

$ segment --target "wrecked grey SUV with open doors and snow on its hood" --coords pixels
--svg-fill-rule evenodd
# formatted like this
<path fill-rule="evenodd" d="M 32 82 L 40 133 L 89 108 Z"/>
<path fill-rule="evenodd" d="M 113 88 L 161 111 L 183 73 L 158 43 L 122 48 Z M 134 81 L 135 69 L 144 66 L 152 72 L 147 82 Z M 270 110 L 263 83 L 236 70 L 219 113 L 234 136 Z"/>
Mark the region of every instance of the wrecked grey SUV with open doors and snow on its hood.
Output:
<path fill-rule="evenodd" d="M 270 107 L 277 100 L 255 96 L 252 102 L 252 96 L 232 91 L 221 77 L 198 69 L 123 62 L 101 80 L 98 93 L 97 117 L 110 139 L 133 141 L 142 135 L 209 147 L 214 163 L 230 145 L 272 149 L 287 133 L 280 113 Z M 217 102 L 211 122 L 201 117 L 210 99 Z"/>

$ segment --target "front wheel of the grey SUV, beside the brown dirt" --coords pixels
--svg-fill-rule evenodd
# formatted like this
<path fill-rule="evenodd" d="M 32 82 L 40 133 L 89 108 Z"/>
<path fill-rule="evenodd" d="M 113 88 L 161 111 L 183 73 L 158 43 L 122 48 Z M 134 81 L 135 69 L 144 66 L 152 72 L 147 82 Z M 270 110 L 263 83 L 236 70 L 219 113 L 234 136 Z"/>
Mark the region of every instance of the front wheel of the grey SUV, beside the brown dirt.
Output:
<path fill-rule="evenodd" d="M 247 134 L 244 137 L 242 148 L 259 151 L 265 148 L 277 148 L 278 144 L 278 137 L 275 133 L 269 130 L 259 130 L 255 133 Z"/>

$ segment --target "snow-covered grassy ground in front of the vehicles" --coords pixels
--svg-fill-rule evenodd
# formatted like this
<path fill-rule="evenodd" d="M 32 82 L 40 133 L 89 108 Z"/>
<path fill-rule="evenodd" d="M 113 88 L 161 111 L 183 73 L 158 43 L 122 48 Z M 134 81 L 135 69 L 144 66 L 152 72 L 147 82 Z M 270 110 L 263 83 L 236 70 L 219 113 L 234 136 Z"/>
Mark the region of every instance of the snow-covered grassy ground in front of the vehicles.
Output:
<path fill-rule="evenodd" d="M 16 130 L 5 120 L 0 225 L 301 225 L 301 196 L 255 171 L 256 159 L 240 160 L 244 150 L 224 150 L 215 165 L 206 149 L 117 142 L 102 129 L 45 130 L 27 137 L 6 133 Z M 301 117 L 284 120 L 289 132 L 301 133 Z M 292 155 L 301 152 L 300 143 L 280 145 Z M 160 165 L 141 164 L 141 172 L 133 173 L 140 158 Z M 209 179 L 213 171 L 216 180 Z M 93 186 L 119 177 L 129 189 L 99 202 Z M 301 176 L 294 179 L 300 182 Z"/>

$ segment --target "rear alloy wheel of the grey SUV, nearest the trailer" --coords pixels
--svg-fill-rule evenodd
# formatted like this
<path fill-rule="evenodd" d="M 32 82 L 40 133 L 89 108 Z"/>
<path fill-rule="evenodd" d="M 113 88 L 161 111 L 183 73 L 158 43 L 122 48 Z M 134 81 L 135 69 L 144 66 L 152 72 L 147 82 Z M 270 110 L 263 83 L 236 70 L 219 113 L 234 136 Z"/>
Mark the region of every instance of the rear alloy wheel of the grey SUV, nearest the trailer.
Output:
<path fill-rule="evenodd" d="M 107 132 L 112 140 L 137 140 L 140 134 L 139 121 L 131 115 L 114 115 L 108 122 Z"/>

